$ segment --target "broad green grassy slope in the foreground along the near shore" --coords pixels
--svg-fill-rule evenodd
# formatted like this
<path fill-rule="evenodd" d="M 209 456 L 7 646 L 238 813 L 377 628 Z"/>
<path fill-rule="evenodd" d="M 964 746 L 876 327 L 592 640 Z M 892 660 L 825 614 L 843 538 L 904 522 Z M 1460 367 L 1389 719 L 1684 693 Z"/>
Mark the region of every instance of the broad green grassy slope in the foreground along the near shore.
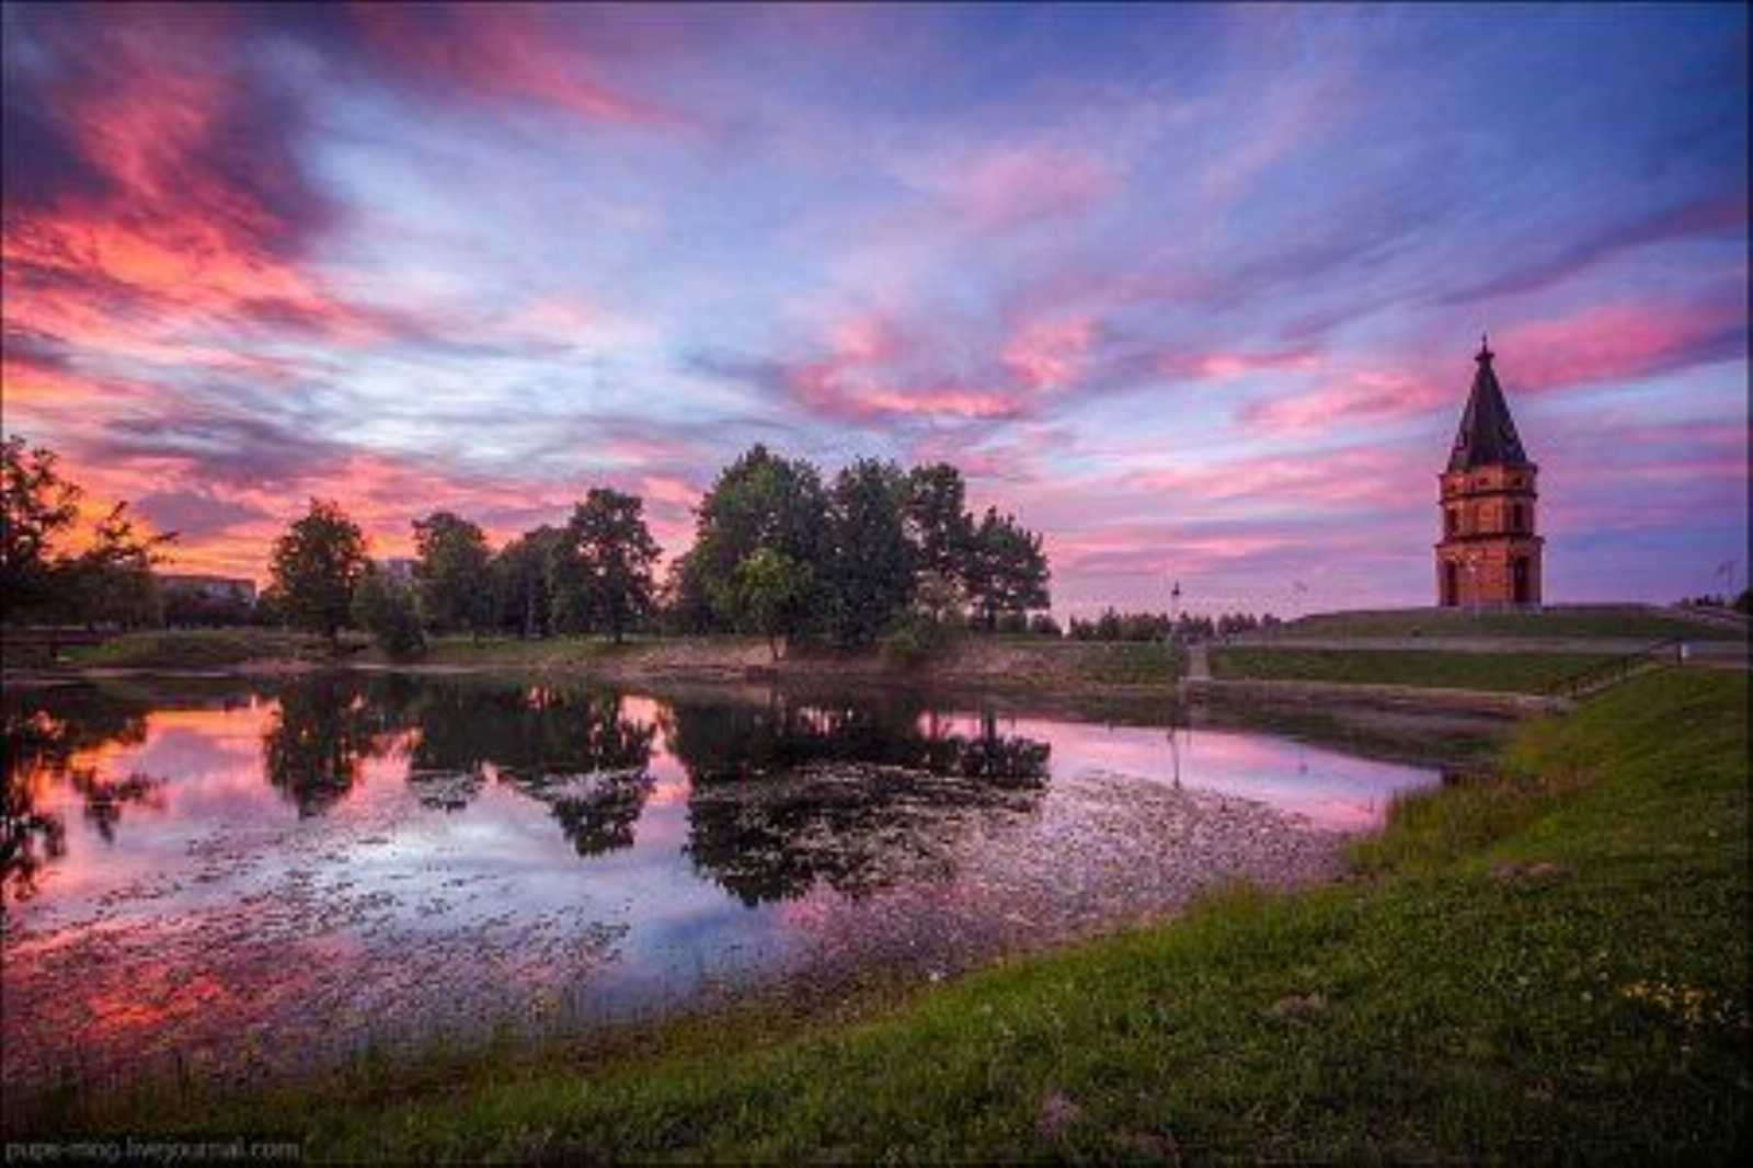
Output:
<path fill-rule="evenodd" d="M 54 1128 L 298 1131 L 312 1157 L 393 1161 L 1730 1161 L 1746 703 L 1742 673 L 1637 677 L 1523 726 L 1497 777 L 1397 803 L 1348 882 L 1231 891 L 869 1017 L 82 1100 Z"/>

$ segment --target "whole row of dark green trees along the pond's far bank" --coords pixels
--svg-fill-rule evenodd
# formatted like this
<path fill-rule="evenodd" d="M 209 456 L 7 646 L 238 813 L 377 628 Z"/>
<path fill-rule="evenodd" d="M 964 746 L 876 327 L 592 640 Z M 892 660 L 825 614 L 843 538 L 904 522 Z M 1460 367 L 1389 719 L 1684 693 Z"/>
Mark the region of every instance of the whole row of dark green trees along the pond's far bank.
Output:
<path fill-rule="evenodd" d="M 415 519 L 414 542 L 412 572 L 393 575 L 337 503 L 312 500 L 275 540 L 263 603 L 330 638 L 365 628 L 393 654 L 428 633 L 738 631 L 775 658 L 787 642 L 908 654 L 945 628 L 1008 628 L 1050 603 L 1041 537 L 996 507 L 975 517 L 948 463 L 859 459 L 824 481 L 756 445 L 719 472 L 661 584 L 643 500 L 610 488 L 500 549 L 449 510 Z"/>

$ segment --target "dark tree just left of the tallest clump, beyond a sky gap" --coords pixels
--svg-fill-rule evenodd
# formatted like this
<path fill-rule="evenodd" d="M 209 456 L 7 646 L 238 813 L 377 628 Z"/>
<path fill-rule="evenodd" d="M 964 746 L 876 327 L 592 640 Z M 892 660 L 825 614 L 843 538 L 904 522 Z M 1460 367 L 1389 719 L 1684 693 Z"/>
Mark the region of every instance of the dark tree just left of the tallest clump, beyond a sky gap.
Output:
<path fill-rule="evenodd" d="M 549 566 L 554 623 L 564 630 L 607 628 L 619 645 L 652 612 L 652 566 L 661 551 L 635 495 L 591 488 L 571 512 Z"/>

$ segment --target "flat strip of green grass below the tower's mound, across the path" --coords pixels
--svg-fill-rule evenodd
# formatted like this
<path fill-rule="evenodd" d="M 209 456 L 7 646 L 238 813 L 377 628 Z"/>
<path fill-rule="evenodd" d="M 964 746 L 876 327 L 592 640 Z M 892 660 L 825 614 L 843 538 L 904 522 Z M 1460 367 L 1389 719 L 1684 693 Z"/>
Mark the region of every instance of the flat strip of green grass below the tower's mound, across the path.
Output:
<path fill-rule="evenodd" d="M 1597 652 L 1443 652 L 1441 649 L 1264 649 L 1211 651 L 1220 680 L 1313 680 L 1346 686 L 1439 686 L 1494 693 L 1544 693 L 1599 668 Z"/>

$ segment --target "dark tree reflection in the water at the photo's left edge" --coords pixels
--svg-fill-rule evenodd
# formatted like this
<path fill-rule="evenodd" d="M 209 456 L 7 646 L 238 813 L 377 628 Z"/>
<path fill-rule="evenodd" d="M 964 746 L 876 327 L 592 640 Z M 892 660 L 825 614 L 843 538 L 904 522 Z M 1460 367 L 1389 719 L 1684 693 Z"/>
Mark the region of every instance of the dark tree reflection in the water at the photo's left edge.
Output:
<path fill-rule="evenodd" d="M 67 851 L 67 824 L 39 810 L 40 784 L 70 782 L 84 796 L 84 814 L 105 840 L 114 838 L 123 807 L 153 798 L 158 782 L 130 775 L 98 777 L 74 758 L 98 745 L 138 744 L 145 710 L 96 689 L 23 689 L 0 696 L 0 745 L 5 758 L 5 800 L 0 805 L 0 905 L 37 893 L 42 866 Z"/>

